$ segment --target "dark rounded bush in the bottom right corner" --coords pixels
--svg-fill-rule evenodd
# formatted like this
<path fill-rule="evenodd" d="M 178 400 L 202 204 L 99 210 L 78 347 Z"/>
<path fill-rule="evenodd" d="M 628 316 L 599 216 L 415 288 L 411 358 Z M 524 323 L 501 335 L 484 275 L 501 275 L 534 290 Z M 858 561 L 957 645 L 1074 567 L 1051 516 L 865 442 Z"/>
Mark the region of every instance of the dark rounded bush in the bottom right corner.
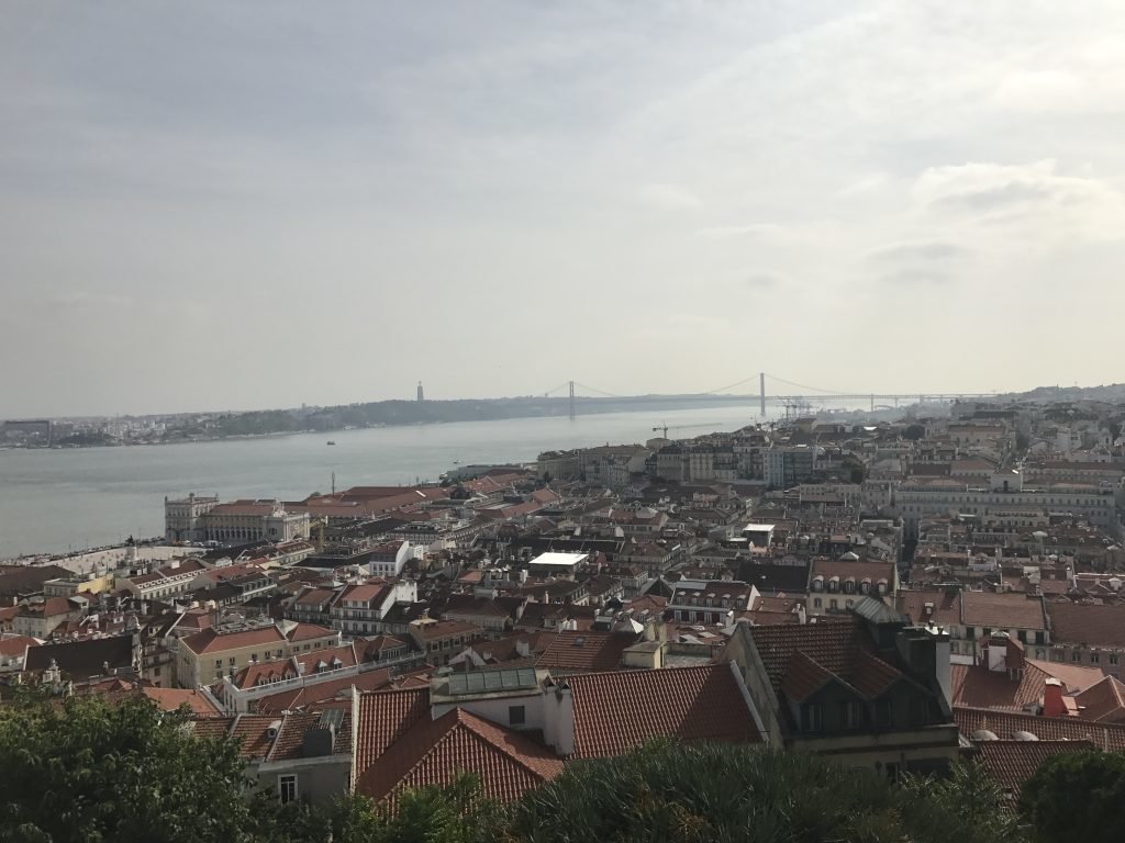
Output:
<path fill-rule="evenodd" d="M 1125 754 L 1068 752 L 1048 758 L 1019 794 L 1042 843 L 1125 840 Z"/>

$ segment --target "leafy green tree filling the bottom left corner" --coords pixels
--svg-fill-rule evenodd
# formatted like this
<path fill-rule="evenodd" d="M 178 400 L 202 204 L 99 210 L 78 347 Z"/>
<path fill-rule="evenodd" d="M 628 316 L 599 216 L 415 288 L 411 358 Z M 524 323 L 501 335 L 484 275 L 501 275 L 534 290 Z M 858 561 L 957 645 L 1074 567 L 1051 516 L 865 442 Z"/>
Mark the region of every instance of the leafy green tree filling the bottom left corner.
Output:
<path fill-rule="evenodd" d="M 25 691 L 0 707 L 0 841 L 250 841 L 245 785 L 232 742 L 145 699 Z"/>

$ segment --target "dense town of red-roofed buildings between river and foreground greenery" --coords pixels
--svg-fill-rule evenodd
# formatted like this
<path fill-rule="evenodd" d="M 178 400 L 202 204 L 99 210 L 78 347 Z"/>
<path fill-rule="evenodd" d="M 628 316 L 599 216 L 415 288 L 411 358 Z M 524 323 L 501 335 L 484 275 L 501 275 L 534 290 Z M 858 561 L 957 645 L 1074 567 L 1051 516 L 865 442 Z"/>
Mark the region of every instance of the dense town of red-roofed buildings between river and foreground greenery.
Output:
<path fill-rule="evenodd" d="M 655 736 L 973 758 L 1015 800 L 1125 750 L 1123 419 L 961 401 L 165 499 L 160 541 L 0 566 L 0 698 L 186 706 L 280 803 L 512 800 Z"/>

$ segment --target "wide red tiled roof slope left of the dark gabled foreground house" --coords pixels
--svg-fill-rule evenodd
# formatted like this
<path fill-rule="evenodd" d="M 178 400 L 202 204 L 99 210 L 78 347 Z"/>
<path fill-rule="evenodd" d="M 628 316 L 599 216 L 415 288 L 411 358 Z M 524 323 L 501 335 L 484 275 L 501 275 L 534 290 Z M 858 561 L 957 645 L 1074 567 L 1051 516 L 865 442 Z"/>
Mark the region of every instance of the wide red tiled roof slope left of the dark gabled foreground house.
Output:
<path fill-rule="evenodd" d="M 650 737 L 759 743 L 729 664 L 590 673 L 560 685 L 574 699 L 574 755 L 620 755 Z"/>

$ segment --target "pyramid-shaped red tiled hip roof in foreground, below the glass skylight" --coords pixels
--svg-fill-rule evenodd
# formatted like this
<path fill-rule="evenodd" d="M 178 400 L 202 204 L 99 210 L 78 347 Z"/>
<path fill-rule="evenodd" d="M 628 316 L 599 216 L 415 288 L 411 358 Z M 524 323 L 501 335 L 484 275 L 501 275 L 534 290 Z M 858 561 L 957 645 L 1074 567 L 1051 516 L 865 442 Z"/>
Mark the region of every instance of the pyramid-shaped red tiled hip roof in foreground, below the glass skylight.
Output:
<path fill-rule="evenodd" d="M 357 792 L 395 799 L 404 788 L 477 776 L 484 795 L 510 801 L 562 772 L 562 762 L 525 735 L 454 708 L 417 720 L 357 780 Z"/>

